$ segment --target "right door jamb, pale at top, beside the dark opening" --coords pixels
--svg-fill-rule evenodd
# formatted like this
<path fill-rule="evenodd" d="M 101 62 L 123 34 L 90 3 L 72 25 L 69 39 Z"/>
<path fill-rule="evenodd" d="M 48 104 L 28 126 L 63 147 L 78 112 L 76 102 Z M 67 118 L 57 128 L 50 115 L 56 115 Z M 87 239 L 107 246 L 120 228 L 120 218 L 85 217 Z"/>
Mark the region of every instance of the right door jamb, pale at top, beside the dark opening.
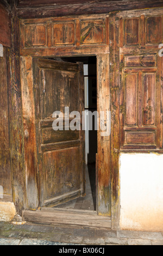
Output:
<path fill-rule="evenodd" d="M 104 111 L 106 124 L 106 111 L 110 111 L 109 87 L 109 53 L 97 56 L 97 109 L 99 117 Z M 97 148 L 97 212 L 101 216 L 111 216 L 111 173 L 110 173 L 110 135 L 102 136 L 98 130 Z"/>

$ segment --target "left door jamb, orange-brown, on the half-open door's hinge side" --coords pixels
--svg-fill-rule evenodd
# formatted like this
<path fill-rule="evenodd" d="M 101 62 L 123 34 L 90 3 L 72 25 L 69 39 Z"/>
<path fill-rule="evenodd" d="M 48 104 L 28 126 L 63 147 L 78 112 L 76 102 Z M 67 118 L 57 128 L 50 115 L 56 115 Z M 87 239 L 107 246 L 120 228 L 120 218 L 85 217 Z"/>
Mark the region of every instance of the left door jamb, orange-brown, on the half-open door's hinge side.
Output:
<path fill-rule="evenodd" d="M 27 209 L 38 207 L 37 155 L 32 57 L 21 57 L 21 88 L 24 126 L 24 162 L 26 166 Z"/>

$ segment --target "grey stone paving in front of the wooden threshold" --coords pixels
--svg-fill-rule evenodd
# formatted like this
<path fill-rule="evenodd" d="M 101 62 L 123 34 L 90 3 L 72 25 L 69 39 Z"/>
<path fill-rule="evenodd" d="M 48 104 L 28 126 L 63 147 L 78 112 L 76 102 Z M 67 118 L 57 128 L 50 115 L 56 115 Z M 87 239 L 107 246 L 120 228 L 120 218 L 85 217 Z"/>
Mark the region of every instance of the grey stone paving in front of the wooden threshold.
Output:
<path fill-rule="evenodd" d="M 0 245 L 163 245 L 163 233 L 0 222 Z"/>

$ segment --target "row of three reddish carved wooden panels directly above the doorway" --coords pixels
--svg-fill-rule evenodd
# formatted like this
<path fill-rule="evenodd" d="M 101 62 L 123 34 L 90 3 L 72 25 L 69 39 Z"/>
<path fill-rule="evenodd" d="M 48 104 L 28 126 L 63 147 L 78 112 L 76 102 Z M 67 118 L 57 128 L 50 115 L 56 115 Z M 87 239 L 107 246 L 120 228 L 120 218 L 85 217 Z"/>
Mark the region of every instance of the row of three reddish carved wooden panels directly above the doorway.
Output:
<path fill-rule="evenodd" d="M 75 51 L 74 47 L 77 47 L 77 51 L 80 52 L 78 47 L 83 46 L 80 54 L 86 51 L 91 54 L 89 46 L 98 45 L 103 45 L 107 53 L 109 52 L 108 31 L 108 15 L 93 15 L 92 19 L 81 16 L 43 19 L 43 21 L 41 19 L 21 20 L 21 53 L 31 55 L 32 51 L 36 51 L 37 56 L 39 54 L 43 56 L 48 54 L 47 51 L 52 50 L 52 53 L 49 53 L 52 55 L 56 54 L 55 50 L 60 50 L 66 56 Z M 59 49 L 56 49 L 58 46 Z M 103 52 L 103 48 L 100 47 L 100 49 Z M 44 53 L 42 54 L 41 51 Z"/>

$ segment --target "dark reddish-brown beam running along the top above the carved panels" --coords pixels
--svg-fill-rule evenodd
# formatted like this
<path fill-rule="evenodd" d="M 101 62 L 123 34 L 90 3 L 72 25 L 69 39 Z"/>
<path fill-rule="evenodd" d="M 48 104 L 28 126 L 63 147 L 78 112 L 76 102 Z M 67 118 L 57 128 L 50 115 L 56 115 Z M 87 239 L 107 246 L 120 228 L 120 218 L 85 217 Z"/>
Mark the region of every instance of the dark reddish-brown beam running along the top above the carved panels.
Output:
<path fill-rule="evenodd" d="M 144 8 L 163 7 L 161 0 L 152 1 L 116 1 L 116 2 L 100 2 L 100 3 L 84 3 L 84 4 L 68 4 L 68 5 L 43 5 L 42 7 L 26 7 L 18 8 L 18 17 L 22 19 L 33 19 L 39 17 L 57 17 L 68 15 L 83 14 L 104 14 L 110 11 L 134 10 Z"/>

